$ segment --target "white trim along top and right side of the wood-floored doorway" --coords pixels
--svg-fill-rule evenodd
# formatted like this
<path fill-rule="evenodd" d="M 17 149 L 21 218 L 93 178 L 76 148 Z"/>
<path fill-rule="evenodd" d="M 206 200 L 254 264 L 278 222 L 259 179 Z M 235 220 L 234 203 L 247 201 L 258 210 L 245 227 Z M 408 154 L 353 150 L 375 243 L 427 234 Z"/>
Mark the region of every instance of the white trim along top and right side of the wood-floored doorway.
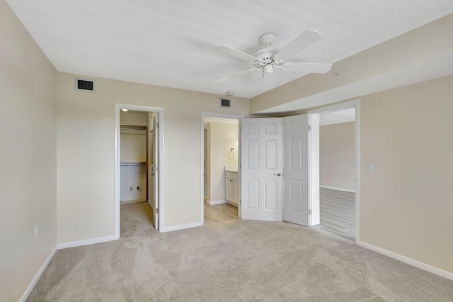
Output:
<path fill-rule="evenodd" d="M 307 111 L 306 113 L 309 115 L 309 118 L 311 118 L 311 115 L 340 111 L 349 108 L 355 108 L 355 242 L 358 244 L 358 242 L 360 242 L 360 100 L 357 99 L 331 106 L 324 106 Z M 319 140 L 317 142 L 317 146 L 314 146 L 314 148 L 319 150 Z M 313 165 L 311 166 L 312 170 L 310 174 L 312 174 L 313 169 L 316 168 L 319 174 L 319 162 L 317 167 L 313 167 Z M 312 175 L 310 175 L 310 177 L 311 176 Z M 316 201 L 311 199 L 309 202 L 312 205 Z M 317 202 L 319 202 L 319 198 Z"/>

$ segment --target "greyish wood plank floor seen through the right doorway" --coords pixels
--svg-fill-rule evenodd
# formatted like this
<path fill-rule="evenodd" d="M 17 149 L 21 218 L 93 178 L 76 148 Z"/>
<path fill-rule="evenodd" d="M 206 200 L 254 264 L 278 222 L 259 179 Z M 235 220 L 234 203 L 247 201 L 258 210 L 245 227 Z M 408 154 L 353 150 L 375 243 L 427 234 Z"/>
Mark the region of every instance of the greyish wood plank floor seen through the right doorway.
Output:
<path fill-rule="evenodd" d="M 338 235 L 355 238 L 355 193 L 320 188 L 321 225 Z"/>

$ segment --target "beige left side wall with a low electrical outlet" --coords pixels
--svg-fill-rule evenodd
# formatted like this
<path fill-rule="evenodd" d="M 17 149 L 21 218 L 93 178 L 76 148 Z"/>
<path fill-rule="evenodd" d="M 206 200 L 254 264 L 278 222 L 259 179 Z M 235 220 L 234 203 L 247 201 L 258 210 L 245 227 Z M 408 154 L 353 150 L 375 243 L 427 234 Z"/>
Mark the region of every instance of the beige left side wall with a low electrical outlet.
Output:
<path fill-rule="evenodd" d="M 57 245 L 57 72 L 3 0 L 0 43 L 0 301 L 18 301 Z"/>

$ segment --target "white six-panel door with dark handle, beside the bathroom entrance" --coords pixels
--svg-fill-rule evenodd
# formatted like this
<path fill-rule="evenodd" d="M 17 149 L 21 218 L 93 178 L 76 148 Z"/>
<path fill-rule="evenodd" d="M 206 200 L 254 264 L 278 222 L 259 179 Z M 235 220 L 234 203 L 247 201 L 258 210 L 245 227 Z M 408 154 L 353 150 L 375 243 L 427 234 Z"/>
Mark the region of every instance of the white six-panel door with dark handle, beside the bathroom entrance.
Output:
<path fill-rule="evenodd" d="M 282 118 L 241 119 L 241 218 L 282 220 Z"/>

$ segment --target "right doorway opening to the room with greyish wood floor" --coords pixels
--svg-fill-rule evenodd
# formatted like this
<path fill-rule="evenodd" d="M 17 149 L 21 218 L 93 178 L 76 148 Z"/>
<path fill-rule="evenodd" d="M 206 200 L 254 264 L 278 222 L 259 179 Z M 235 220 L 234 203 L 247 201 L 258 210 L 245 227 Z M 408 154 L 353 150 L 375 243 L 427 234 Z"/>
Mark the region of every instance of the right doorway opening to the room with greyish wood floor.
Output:
<path fill-rule="evenodd" d="M 316 228 L 359 240 L 359 101 L 308 112 L 319 119 L 311 148 L 319 161 L 311 162 L 311 177 L 319 179 L 320 195 L 311 198 L 319 209 Z M 312 129 L 313 130 L 313 129 Z"/>

